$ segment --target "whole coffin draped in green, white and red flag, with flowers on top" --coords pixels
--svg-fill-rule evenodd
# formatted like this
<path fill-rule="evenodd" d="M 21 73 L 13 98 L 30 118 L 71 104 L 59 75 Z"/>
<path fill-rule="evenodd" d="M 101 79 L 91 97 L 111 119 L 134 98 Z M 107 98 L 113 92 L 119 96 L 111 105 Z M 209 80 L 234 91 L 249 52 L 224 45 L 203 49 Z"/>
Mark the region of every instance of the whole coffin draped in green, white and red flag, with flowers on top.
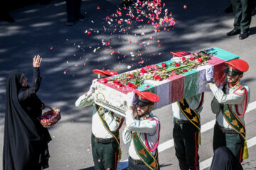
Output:
<path fill-rule="evenodd" d="M 159 102 L 154 104 L 154 109 L 161 108 L 206 91 L 207 64 L 213 65 L 215 84 L 224 84 L 225 62 L 238 59 L 238 55 L 218 47 L 204 52 L 174 57 L 166 62 L 99 79 L 95 89 L 95 103 L 125 116 L 126 94 L 132 91 L 149 91 L 159 96 Z"/>

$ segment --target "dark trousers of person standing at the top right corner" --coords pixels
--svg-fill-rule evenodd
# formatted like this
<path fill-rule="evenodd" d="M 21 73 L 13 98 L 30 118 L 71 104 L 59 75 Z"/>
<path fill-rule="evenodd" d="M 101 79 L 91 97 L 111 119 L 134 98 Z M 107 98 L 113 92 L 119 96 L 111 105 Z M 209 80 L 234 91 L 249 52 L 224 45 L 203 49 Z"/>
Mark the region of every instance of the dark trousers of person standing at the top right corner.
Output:
<path fill-rule="evenodd" d="M 232 0 L 235 14 L 234 28 L 248 31 L 251 23 L 250 0 Z"/>

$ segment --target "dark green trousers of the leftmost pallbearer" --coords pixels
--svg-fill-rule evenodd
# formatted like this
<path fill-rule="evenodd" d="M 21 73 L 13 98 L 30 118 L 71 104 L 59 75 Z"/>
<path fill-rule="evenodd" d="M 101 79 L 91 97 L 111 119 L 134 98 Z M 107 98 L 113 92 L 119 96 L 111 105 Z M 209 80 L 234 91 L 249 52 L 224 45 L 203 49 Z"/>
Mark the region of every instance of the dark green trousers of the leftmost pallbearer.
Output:
<path fill-rule="evenodd" d="M 95 141 L 95 137 L 91 137 L 92 140 L 92 157 L 95 164 L 95 170 L 116 170 L 117 160 L 119 154 L 119 145 L 117 141 L 103 144 Z"/>

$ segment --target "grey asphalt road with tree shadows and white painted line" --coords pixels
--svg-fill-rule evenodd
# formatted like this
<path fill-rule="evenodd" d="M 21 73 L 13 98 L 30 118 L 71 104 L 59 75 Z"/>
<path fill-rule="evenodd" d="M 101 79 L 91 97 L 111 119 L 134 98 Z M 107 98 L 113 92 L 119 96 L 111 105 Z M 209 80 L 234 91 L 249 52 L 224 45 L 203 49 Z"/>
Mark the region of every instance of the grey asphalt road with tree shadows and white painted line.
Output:
<path fill-rule="evenodd" d="M 255 62 L 256 62 L 256 16 L 252 17 L 250 37 L 239 40 L 238 35 L 227 37 L 225 33 L 233 29 L 233 13 L 224 13 L 230 1 L 164 1 L 166 8 L 176 18 L 176 26 L 170 31 L 154 33 L 150 25 L 139 28 L 133 25 L 127 33 L 112 33 L 104 30 L 104 18 L 112 15 L 120 6 L 121 0 L 82 1 L 82 13 L 87 13 L 87 21 L 77 22 L 73 27 L 65 26 L 65 1 L 55 0 L 49 4 L 33 4 L 11 11 L 15 23 L 0 21 L 0 153 L 4 136 L 5 89 L 6 77 L 14 69 L 23 69 L 29 80 L 32 79 L 32 58 L 41 55 L 41 76 L 43 81 L 38 96 L 41 100 L 62 111 L 60 123 L 50 128 L 53 140 L 50 142 L 50 168 L 93 169 L 90 149 L 92 108 L 75 108 L 75 100 L 89 89 L 95 75 L 92 69 L 116 69 L 121 73 L 144 67 L 148 64 L 163 62 L 171 58 L 170 51 L 198 52 L 210 47 L 220 47 L 239 55 L 249 63 L 250 69 L 242 78 L 250 86 L 251 103 L 255 97 Z M 183 8 L 186 5 L 187 8 Z M 100 9 L 97 9 L 97 6 Z M 91 30 L 90 30 L 91 28 Z M 91 35 L 85 31 L 91 31 Z M 97 33 L 98 30 L 98 33 Z M 145 35 L 142 35 L 145 33 Z M 135 36 L 137 34 L 137 36 Z M 149 37 L 154 38 L 150 41 Z M 120 55 L 110 55 L 107 48 L 102 47 L 102 40 L 110 40 L 112 49 L 119 50 Z M 123 40 L 120 42 L 120 40 Z M 159 40 L 159 42 L 156 42 Z M 129 42 L 132 43 L 129 43 Z M 135 42 L 137 41 L 137 42 Z M 146 47 L 143 42 L 145 42 Z M 142 43 L 142 46 L 139 45 Z M 148 44 L 147 44 L 148 43 Z M 159 47 L 159 43 L 161 46 Z M 93 50 L 101 47 L 96 52 Z M 130 48 L 130 50 L 128 49 Z M 142 52 L 143 64 L 139 58 L 132 60 L 130 52 Z M 161 52 L 161 55 L 159 53 Z M 153 55 L 156 54 L 156 55 Z M 126 57 L 124 57 L 126 55 Z M 65 72 L 65 74 L 64 74 Z M 161 96 L 160 96 L 161 97 Z M 210 101 L 213 94 L 206 92 L 201 113 L 202 125 L 214 121 Z M 255 103 L 245 115 L 247 140 L 256 136 Z M 178 169 L 174 147 L 164 142 L 171 142 L 173 116 L 171 106 L 154 111 L 161 120 L 160 145 L 163 150 L 159 154 L 161 169 Z M 205 160 L 213 157 L 213 128 L 202 133 L 202 145 L 199 148 L 202 167 Z M 256 147 L 251 140 L 249 159 L 244 160 L 244 169 L 256 169 Z M 168 147 L 169 146 L 169 147 Z M 128 146 L 122 144 L 122 160 L 128 157 Z M 0 154 L 0 159 L 2 154 Z M 0 167 L 2 162 L 0 162 Z M 122 165 L 125 164 L 122 163 Z"/>

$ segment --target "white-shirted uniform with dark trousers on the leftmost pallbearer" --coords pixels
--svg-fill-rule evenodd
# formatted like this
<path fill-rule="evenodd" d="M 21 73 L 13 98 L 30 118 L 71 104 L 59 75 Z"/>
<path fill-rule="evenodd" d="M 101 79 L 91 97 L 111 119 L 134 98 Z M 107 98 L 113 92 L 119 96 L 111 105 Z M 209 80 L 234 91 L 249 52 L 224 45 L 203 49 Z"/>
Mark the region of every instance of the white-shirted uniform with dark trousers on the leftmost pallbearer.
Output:
<path fill-rule="evenodd" d="M 119 128 L 121 128 L 124 118 L 120 119 L 112 111 L 97 106 L 94 103 L 94 93 L 91 91 L 80 96 L 75 102 L 75 106 L 78 108 L 92 105 L 91 142 L 95 169 L 115 170 L 119 158 Z"/>

